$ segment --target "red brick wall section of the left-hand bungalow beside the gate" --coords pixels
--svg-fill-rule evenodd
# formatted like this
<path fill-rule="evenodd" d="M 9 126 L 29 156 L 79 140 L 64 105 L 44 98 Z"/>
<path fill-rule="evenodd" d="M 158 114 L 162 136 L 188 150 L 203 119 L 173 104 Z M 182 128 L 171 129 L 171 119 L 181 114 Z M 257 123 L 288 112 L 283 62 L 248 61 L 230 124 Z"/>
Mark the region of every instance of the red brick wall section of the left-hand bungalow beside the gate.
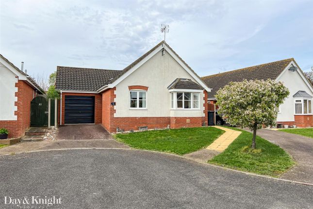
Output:
<path fill-rule="evenodd" d="M 31 125 L 31 101 L 33 100 L 34 90 L 25 81 L 19 80 L 15 87 L 17 92 L 17 110 L 15 115 L 17 116 L 16 121 L 0 121 L 0 128 L 6 128 L 9 130 L 9 138 L 15 138 L 24 136 L 25 131 Z"/>

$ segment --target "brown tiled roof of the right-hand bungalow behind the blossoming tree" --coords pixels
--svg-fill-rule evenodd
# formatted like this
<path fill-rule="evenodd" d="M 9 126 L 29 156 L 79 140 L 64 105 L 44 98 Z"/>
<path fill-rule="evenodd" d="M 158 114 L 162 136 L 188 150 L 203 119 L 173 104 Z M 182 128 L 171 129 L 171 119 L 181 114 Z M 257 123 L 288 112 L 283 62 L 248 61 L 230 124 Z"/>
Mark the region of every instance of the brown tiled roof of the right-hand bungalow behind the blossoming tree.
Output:
<path fill-rule="evenodd" d="M 202 80 L 210 87 L 208 98 L 214 98 L 218 89 L 225 87 L 231 81 L 240 82 L 247 80 L 275 80 L 282 70 L 293 61 L 294 58 L 284 59 L 276 62 L 270 62 L 262 65 L 256 65 L 248 68 L 232 70 L 228 72 L 218 73 L 202 77 Z"/>

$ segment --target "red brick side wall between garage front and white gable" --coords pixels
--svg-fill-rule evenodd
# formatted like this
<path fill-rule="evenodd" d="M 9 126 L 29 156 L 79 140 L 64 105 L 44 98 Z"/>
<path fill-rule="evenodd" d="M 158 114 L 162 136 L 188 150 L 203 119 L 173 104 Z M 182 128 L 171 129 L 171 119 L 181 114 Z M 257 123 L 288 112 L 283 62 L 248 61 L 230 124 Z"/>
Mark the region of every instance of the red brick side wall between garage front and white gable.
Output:
<path fill-rule="evenodd" d="M 116 129 L 115 131 L 112 131 L 114 129 L 113 118 L 116 110 L 114 109 L 114 106 L 111 105 L 111 103 L 114 102 L 114 98 L 116 97 L 114 93 L 115 89 L 116 87 L 108 89 L 102 93 L 102 126 L 109 132 L 116 131 Z"/>

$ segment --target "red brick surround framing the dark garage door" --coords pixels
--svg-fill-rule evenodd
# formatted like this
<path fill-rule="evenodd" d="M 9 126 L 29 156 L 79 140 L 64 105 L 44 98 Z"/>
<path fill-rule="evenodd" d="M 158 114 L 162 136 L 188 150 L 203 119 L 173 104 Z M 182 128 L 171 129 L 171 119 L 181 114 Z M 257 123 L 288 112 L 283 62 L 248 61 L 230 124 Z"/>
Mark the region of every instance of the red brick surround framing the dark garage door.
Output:
<path fill-rule="evenodd" d="M 102 122 L 102 95 L 91 93 L 63 93 L 62 92 L 62 125 L 64 125 L 65 96 L 94 96 L 95 97 L 95 123 Z M 58 102 L 58 124 L 60 124 L 60 101 Z"/>

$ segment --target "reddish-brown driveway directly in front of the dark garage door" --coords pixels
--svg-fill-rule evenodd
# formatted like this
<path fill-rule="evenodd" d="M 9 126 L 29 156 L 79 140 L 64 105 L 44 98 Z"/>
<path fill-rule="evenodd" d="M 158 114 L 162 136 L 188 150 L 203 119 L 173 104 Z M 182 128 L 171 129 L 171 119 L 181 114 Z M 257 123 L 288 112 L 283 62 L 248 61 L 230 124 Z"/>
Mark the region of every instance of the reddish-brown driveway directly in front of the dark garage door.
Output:
<path fill-rule="evenodd" d="M 57 139 L 112 139 L 111 134 L 101 125 L 62 125 L 58 127 Z"/>

